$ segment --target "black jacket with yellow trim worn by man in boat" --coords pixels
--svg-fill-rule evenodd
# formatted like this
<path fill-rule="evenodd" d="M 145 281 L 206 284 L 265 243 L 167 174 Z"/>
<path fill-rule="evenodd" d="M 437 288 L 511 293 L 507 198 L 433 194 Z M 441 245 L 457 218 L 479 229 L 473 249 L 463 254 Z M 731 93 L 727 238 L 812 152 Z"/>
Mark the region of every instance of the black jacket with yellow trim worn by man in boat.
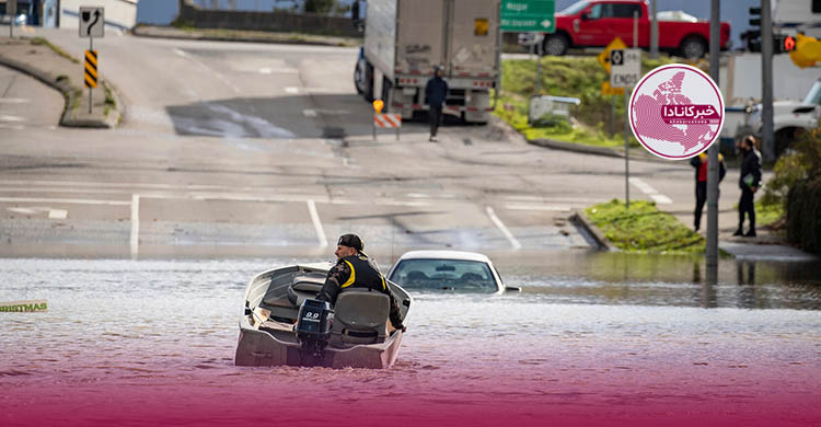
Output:
<path fill-rule="evenodd" d="M 367 255 L 359 253 L 339 258 L 327 273 L 325 285 L 316 299 L 336 304 L 336 298 L 346 289 L 371 289 L 386 295 L 391 299 L 391 324 L 397 330 L 402 328 L 402 312 L 396 298 L 382 273 Z"/>

